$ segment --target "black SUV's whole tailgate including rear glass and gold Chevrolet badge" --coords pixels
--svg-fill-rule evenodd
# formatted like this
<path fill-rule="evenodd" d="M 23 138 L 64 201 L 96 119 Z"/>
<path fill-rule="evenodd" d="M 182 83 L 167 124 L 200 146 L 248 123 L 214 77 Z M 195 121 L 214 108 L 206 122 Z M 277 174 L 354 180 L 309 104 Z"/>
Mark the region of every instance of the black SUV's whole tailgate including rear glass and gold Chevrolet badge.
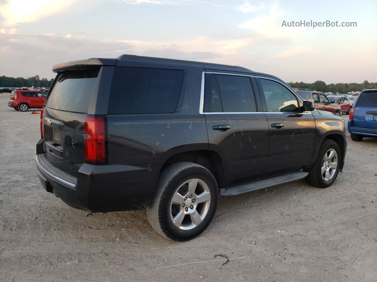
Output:
<path fill-rule="evenodd" d="M 50 161 L 77 175 L 84 162 L 84 121 L 100 68 L 58 74 L 43 114 L 44 147 Z"/>

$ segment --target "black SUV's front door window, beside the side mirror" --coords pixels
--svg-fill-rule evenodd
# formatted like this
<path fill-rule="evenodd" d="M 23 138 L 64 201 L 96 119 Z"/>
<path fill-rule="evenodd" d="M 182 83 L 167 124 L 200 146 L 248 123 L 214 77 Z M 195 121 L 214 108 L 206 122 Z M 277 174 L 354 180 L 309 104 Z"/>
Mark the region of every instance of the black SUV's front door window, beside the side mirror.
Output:
<path fill-rule="evenodd" d="M 268 112 L 299 112 L 296 96 L 285 86 L 269 79 L 259 79 L 259 81 L 262 85 Z"/>

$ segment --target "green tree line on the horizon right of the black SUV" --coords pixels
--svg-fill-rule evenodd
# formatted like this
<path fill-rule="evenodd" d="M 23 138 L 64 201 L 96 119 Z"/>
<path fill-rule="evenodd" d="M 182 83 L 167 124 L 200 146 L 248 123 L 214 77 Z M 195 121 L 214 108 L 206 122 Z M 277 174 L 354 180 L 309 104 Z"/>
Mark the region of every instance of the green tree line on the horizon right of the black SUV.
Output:
<path fill-rule="evenodd" d="M 289 82 L 292 88 L 309 88 L 319 92 L 341 92 L 346 94 L 351 91 L 362 91 L 364 88 L 375 89 L 377 88 L 377 82 L 368 82 L 364 80 L 362 83 L 331 83 L 326 84 L 324 81 L 317 80 L 314 83 L 305 82 Z"/>

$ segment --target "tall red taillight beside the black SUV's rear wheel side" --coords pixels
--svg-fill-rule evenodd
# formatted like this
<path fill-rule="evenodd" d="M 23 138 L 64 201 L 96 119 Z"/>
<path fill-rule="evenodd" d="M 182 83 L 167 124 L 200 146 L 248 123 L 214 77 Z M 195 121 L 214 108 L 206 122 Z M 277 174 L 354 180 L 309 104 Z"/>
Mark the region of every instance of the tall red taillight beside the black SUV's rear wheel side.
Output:
<path fill-rule="evenodd" d="M 84 161 L 89 164 L 106 163 L 105 120 L 87 116 L 84 122 Z"/>

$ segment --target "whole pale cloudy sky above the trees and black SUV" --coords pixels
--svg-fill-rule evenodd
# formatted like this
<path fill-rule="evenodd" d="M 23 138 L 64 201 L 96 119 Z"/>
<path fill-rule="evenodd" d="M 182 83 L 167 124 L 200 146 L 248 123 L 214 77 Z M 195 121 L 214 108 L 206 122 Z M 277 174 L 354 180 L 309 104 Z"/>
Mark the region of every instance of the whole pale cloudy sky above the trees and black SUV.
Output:
<path fill-rule="evenodd" d="M 239 65 L 286 82 L 377 81 L 377 1 L 0 0 L 0 76 L 122 54 Z M 357 27 L 288 27 L 291 21 Z"/>

